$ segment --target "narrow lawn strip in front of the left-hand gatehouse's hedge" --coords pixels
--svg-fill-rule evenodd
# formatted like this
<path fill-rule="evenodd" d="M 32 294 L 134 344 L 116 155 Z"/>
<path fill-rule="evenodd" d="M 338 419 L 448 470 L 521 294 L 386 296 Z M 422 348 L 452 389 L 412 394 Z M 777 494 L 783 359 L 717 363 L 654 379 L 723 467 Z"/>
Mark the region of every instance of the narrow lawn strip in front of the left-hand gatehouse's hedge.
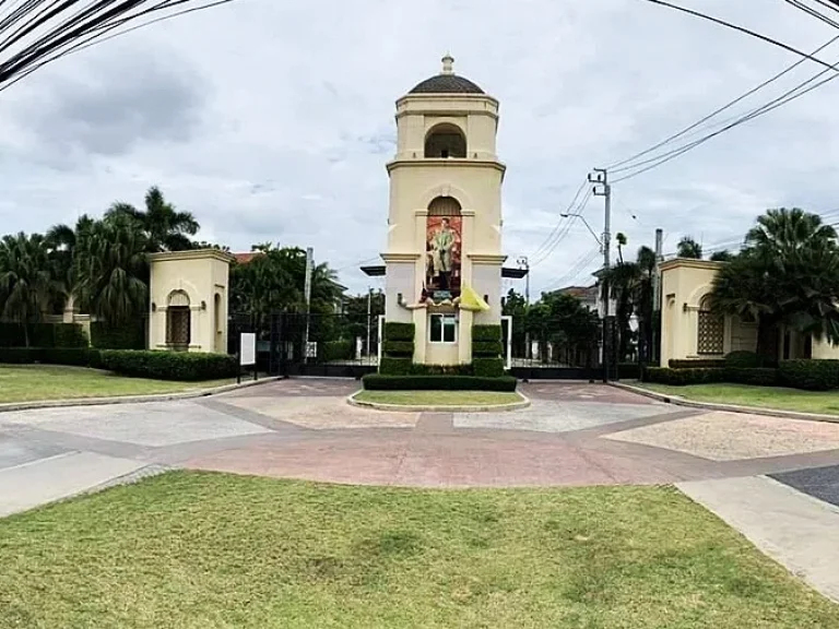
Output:
<path fill-rule="evenodd" d="M 0 403 L 175 393 L 190 389 L 220 387 L 232 382 L 235 380 L 166 382 L 142 378 L 123 378 L 108 371 L 84 367 L 0 365 Z"/>

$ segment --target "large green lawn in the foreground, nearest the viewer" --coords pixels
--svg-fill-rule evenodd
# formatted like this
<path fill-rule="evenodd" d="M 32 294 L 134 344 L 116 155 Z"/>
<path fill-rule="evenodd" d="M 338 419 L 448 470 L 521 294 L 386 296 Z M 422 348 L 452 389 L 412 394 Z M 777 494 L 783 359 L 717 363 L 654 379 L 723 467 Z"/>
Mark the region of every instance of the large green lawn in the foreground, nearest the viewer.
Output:
<path fill-rule="evenodd" d="M 175 472 L 0 520 L 0 627 L 839 627 L 839 606 L 670 487 Z"/>

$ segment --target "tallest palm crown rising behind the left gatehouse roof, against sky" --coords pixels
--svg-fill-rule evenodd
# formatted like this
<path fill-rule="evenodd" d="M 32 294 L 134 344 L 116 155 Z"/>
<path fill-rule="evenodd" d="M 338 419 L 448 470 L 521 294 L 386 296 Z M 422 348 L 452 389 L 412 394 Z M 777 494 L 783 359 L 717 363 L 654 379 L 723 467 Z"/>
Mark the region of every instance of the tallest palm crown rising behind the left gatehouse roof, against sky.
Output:
<path fill-rule="evenodd" d="M 145 193 L 145 210 L 117 202 L 110 206 L 106 216 L 114 214 L 127 214 L 142 225 L 151 252 L 192 249 L 189 237 L 194 236 L 201 227 L 190 212 L 178 212 L 172 203 L 167 203 L 156 186 L 152 186 Z"/>

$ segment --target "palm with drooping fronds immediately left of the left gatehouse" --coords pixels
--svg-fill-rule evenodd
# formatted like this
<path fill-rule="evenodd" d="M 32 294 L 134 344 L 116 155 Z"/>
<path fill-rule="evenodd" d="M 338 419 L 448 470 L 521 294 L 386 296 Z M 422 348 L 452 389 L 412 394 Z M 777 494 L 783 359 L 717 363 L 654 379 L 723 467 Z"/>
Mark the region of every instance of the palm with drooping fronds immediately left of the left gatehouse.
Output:
<path fill-rule="evenodd" d="M 128 214 L 109 214 L 82 232 L 74 270 L 82 305 L 110 325 L 127 323 L 144 312 L 146 250 L 142 225 Z"/>

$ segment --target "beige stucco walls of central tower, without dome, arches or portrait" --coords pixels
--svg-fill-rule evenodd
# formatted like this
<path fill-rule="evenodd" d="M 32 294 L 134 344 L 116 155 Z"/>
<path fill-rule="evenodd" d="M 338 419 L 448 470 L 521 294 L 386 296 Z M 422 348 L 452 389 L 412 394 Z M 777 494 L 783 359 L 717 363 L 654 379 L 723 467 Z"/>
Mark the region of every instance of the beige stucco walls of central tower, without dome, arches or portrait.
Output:
<path fill-rule="evenodd" d="M 482 94 L 412 94 L 397 102 L 397 154 L 390 177 L 386 274 L 386 319 L 413 321 L 414 361 L 435 365 L 472 360 L 472 324 L 500 323 L 501 183 L 505 166 L 496 155 L 498 102 Z M 465 158 L 424 157 L 425 141 L 439 124 L 458 127 L 466 138 Z M 458 343 L 428 339 L 428 316 L 416 306 L 426 271 L 428 205 L 453 197 L 461 205 L 461 286 L 487 296 L 489 311 L 459 310 Z M 399 296 L 402 296 L 400 305 Z"/>

